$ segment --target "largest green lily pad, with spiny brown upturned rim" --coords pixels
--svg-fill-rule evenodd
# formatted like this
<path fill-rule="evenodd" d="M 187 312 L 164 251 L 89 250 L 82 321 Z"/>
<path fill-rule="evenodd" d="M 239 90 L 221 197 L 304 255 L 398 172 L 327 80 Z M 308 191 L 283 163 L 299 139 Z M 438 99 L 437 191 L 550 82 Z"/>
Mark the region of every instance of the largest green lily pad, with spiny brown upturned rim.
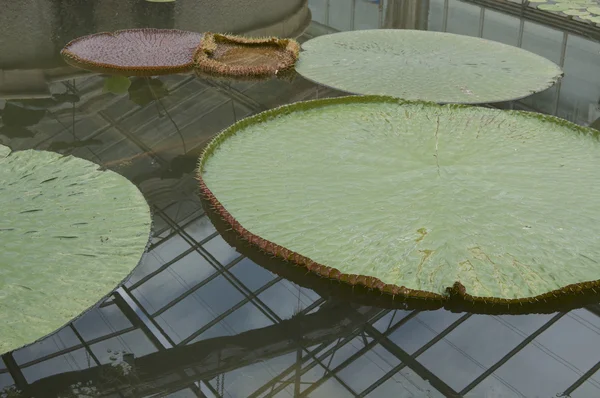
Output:
<path fill-rule="evenodd" d="M 541 304 L 600 292 L 594 134 L 533 113 L 342 97 L 234 124 L 198 178 L 243 239 L 326 278 Z"/>

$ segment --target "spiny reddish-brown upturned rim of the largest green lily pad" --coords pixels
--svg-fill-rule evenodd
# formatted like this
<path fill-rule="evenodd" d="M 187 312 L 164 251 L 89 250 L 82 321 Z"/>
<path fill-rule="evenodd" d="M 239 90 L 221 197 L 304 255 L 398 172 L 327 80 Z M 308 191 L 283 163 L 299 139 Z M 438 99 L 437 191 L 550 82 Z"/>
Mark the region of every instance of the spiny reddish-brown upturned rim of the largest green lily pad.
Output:
<path fill-rule="evenodd" d="M 346 274 L 341 272 L 340 270 L 326 266 L 324 264 L 319 264 L 308 257 L 305 257 L 299 253 L 293 252 L 289 249 L 286 249 L 283 246 L 280 246 L 274 242 L 268 241 L 266 239 L 261 238 L 258 235 L 253 234 L 244 228 L 228 211 L 225 207 L 219 202 L 216 196 L 212 193 L 212 191 L 206 185 L 204 179 L 202 178 L 202 172 L 204 168 L 204 164 L 206 160 L 214 153 L 214 151 L 218 148 L 218 146 L 226 140 L 228 137 L 235 135 L 239 130 L 253 125 L 258 124 L 267 120 L 271 120 L 279 115 L 290 114 L 297 110 L 308 110 L 319 108 L 327 105 L 336 105 L 336 104 L 348 104 L 348 103 L 396 103 L 398 105 L 416 105 L 420 104 L 428 107 L 445 107 L 451 109 L 470 109 L 473 108 L 471 105 L 463 105 L 463 104 L 446 104 L 440 105 L 433 102 L 427 101 L 412 101 L 412 100 L 402 100 L 388 96 L 378 96 L 378 95 L 369 95 L 369 96 L 343 96 L 336 98 L 326 98 L 326 99 L 317 99 L 310 101 L 301 101 L 296 103 L 291 103 L 287 105 L 283 105 L 277 108 L 273 108 L 256 115 L 247 117 L 245 119 L 240 120 L 239 122 L 233 124 L 227 129 L 223 130 L 221 133 L 217 134 L 211 142 L 206 146 L 200 159 L 198 161 L 198 167 L 196 170 L 196 179 L 200 185 L 200 194 L 201 196 L 208 202 L 213 211 L 223 219 L 223 221 L 233 230 L 235 231 L 239 237 L 245 241 L 247 241 L 250 245 L 257 247 L 261 251 L 268 253 L 271 256 L 280 258 L 286 262 L 293 263 L 295 265 L 306 268 L 309 272 L 317 274 L 323 278 L 328 278 L 332 280 L 337 280 L 348 285 L 360 285 L 366 287 L 367 289 L 378 290 L 382 294 L 387 294 L 392 296 L 392 299 L 396 297 L 398 299 L 422 299 L 422 300 L 435 300 L 442 302 L 445 308 L 460 308 L 462 310 L 468 310 L 469 307 L 477 306 L 496 306 L 500 305 L 502 307 L 506 307 L 510 309 L 510 306 L 513 307 L 521 307 L 526 306 L 532 311 L 535 308 L 546 307 L 549 304 L 561 304 L 563 301 L 579 301 L 582 299 L 582 296 L 585 296 L 587 299 L 590 299 L 591 302 L 597 302 L 600 300 L 600 280 L 586 281 L 580 283 L 574 283 L 570 285 L 566 285 L 560 289 L 555 289 L 547 293 L 543 293 L 537 296 L 531 297 L 523 297 L 516 299 L 507 299 L 507 298 L 498 298 L 498 297 L 484 297 L 484 296 L 473 296 L 467 293 L 465 286 L 460 283 L 460 281 L 454 282 L 451 287 L 446 288 L 446 294 L 438 294 L 433 292 L 428 292 L 425 290 L 415 290 L 410 289 L 405 286 L 398 286 L 395 284 L 386 284 L 382 280 L 365 275 L 357 275 L 357 274 Z M 598 138 L 600 135 L 599 131 L 596 131 L 591 128 L 582 127 L 577 124 L 568 122 L 564 119 L 560 119 L 558 117 L 549 116 L 549 115 L 541 115 L 533 112 L 526 111 L 500 111 L 498 112 L 507 112 L 509 114 L 520 115 L 524 117 L 536 118 L 538 120 L 550 122 L 553 124 L 559 124 L 562 126 L 568 126 L 572 130 L 578 133 L 589 134 Z M 598 290 L 596 290 L 598 289 Z M 544 311 L 547 312 L 547 311 Z"/>

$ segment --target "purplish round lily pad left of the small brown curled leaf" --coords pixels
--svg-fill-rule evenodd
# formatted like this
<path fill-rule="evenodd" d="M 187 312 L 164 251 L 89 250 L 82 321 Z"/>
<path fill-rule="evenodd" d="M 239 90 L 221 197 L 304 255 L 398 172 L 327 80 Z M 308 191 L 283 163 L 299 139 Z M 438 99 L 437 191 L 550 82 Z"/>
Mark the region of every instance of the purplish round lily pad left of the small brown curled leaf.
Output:
<path fill-rule="evenodd" d="M 74 66 L 126 76 L 190 72 L 202 33 L 177 29 L 127 29 L 96 33 L 68 43 L 61 54 Z"/>

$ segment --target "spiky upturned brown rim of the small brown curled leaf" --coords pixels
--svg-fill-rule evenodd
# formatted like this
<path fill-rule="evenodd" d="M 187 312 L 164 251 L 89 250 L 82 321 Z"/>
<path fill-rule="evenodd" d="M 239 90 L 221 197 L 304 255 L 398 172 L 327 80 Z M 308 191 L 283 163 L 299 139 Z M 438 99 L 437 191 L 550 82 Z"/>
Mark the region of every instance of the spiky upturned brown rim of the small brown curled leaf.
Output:
<path fill-rule="evenodd" d="M 284 55 L 277 66 L 242 66 L 230 65 L 212 58 L 219 43 L 238 44 L 247 47 L 275 47 Z M 300 53 L 300 45 L 294 39 L 277 37 L 247 38 L 243 36 L 206 32 L 202 43 L 194 53 L 194 67 L 200 73 L 214 76 L 231 77 L 266 77 L 274 76 L 294 66 Z"/>

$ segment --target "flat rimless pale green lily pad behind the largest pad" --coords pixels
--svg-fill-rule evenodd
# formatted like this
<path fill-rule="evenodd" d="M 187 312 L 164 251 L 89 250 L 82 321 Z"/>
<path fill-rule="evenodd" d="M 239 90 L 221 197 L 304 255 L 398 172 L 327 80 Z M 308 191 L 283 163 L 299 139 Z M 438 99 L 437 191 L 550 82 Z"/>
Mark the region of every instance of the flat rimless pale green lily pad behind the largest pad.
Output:
<path fill-rule="evenodd" d="M 311 39 L 302 49 L 299 74 L 354 94 L 492 103 L 543 91 L 562 77 L 559 66 L 529 51 L 442 32 L 341 32 Z"/>

